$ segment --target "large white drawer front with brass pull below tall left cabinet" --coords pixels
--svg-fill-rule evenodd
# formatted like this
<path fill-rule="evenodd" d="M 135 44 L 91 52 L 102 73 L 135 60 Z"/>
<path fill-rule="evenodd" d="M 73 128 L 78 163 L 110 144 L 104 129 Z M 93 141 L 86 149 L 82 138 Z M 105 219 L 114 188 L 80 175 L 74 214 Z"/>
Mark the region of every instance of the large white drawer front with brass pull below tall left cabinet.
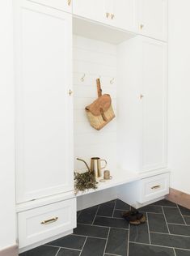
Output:
<path fill-rule="evenodd" d="M 76 228 L 76 198 L 18 214 L 19 248 Z"/>

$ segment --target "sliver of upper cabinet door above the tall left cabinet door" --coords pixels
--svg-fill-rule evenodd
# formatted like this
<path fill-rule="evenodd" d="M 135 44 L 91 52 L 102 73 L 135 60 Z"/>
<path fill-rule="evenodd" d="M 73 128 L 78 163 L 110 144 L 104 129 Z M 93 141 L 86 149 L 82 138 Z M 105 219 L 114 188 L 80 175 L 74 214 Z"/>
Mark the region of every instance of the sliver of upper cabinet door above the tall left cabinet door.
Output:
<path fill-rule="evenodd" d="M 32 2 L 37 2 L 44 6 L 53 7 L 57 10 L 67 11 L 70 13 L 72 12 L 73 0 L 32 0 Z"/>

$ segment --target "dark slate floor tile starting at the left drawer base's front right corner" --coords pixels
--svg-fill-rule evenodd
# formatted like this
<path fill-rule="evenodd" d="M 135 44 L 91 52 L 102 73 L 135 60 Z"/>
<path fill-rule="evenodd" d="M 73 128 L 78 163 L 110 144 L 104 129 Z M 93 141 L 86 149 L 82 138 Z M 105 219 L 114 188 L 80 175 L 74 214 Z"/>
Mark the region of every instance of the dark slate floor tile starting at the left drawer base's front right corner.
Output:
<path fill-rule="evenodd" d="M 107 238 L 108 231 L 109 231 L 109 228 L 96 227 L 96 226 L 91 226 L 86 224 L 78 224 L 77 228 L 74 229 L 74 234 L 89 236 L 89 237 Z"/>

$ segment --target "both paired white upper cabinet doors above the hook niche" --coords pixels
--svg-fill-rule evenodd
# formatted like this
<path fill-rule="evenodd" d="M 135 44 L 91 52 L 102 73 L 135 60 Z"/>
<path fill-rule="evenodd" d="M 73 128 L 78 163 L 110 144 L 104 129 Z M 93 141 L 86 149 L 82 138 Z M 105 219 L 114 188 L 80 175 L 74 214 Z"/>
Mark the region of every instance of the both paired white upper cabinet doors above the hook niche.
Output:
<path fill-rule="evenodd" d="M 133 0 L 74 0 L 73 11 L 74 15 L 137 31 L 136 1 Z"/>

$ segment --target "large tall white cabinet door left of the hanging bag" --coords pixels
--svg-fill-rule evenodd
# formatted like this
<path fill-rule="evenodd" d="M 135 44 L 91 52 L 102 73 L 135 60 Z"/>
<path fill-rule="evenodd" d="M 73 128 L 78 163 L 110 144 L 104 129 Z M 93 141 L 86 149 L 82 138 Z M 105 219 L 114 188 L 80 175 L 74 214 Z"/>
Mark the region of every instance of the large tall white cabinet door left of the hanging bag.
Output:
<path fill-rule="evenodd" d="M 17 203 L 73 190 L 72 17 L 16 6 Z"/>

